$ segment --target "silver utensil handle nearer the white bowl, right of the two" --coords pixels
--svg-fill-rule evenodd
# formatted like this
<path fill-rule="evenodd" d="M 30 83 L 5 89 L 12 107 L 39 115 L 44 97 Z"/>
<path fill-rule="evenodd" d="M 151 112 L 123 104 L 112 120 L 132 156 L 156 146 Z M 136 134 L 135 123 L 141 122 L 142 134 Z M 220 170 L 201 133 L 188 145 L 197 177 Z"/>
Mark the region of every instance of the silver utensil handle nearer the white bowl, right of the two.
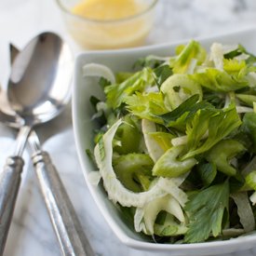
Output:
<path fill-rule="evenodd" d="M 62 254 L 94 256 L 74 206 L 56 168 L 51 164 L 49 155 L 47 152 L 37 151 L 32 158 Z"/>

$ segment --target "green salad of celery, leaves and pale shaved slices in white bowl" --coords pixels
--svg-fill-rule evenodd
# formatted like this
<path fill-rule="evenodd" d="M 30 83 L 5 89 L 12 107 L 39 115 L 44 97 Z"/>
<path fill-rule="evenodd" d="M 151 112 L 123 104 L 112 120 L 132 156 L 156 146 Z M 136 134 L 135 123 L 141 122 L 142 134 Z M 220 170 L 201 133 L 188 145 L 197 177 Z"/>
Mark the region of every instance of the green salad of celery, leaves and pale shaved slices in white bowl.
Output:
<path fill-rule="evenodd" d="M 89 179 L 102 179 L 135 232 L 172 244 L 255 233 L 255 63 L 239 44 L 207 52 L 191 40 L 134 72 L 83 67 L 106 95 L 90 98 L 101 128 Z"/>

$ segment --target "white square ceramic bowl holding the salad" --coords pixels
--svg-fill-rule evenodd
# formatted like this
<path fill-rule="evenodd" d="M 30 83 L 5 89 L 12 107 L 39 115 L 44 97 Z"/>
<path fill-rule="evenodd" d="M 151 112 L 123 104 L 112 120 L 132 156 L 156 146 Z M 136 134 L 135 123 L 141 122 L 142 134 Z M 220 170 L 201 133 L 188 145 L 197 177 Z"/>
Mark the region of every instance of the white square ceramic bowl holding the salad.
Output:
<path fill-rule="evenodd" d="M 180 44 L 186 44 L 188 41 L 153 47 L 88 51 L 77 56 L 74 66 L 73 123 L 74 139 L 79 161 L 90 193 L 101 210 L 102 215 L 115 235 L 128 247 L 151 252 L 155 251 L 158 254 L 168 253 L 168 255 L 213 255 L 251 249 L 256 246 L 256 236 L 244 236 L 226 241 L 195 244 L 156 244 L 152 241 L 151 237 L 134 232 L 132 224 L 108 199 L 102 183 L 95 188 L 88 182 L 88 173 L 95 170 L 96 167 L 90 162 L 86 150 L 89 149 L 93 152 L 93 129 L 99 128 L 97 127 L 97 122 L 91 121 L 94 111 L 90 105 L 89 98 L 94 95 L 104 100 L 104 95 L 98 85 L 99 77 L 83 77 L 82 67 L 85 64 L 95 62 L 107 65 L 114 73 L 121 71 L 131 72 L 134 62 L 139 58 L 150 54 L 173 56 L 175 55 L 175 47 Z M 250 53 L 256 55 L 256 29 L 254 28 L 234 34 L 195 38 L 195 41 L 200 42 L 207 50 L 209 50 L 213 42 L 219 42 L 225 45 L 240 43 Z"/>

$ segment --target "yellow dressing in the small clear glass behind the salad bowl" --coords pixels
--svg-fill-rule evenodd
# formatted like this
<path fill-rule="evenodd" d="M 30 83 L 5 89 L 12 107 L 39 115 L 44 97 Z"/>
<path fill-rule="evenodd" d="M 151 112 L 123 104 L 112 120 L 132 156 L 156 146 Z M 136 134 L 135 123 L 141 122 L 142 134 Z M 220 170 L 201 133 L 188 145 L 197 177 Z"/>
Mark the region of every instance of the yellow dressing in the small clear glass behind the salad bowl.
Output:
<path fill-rule="evenodd" d="M 86 0 L 66 20 L 74 39 L 86 49 L 138 47 L 153 26 L 146 1 Z"/>

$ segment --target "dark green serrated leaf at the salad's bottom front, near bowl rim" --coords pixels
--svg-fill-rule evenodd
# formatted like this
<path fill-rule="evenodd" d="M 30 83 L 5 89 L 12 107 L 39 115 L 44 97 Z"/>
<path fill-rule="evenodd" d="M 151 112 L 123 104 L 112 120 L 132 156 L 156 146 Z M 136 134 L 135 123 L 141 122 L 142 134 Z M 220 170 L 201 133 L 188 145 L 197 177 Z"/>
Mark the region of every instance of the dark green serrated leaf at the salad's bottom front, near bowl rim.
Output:
<path fill-rule="evenodd" d="M 210 186 L 192 196 L 183 208 L 195 213 L 189 218 L 188 231 L 184 236 L 186 243 L 202 242 L 209 238 L 210 232 L 218 236 L 228 221 L 229 181 Z M 188 197 L 191 199 L 191 197 Z"/>

